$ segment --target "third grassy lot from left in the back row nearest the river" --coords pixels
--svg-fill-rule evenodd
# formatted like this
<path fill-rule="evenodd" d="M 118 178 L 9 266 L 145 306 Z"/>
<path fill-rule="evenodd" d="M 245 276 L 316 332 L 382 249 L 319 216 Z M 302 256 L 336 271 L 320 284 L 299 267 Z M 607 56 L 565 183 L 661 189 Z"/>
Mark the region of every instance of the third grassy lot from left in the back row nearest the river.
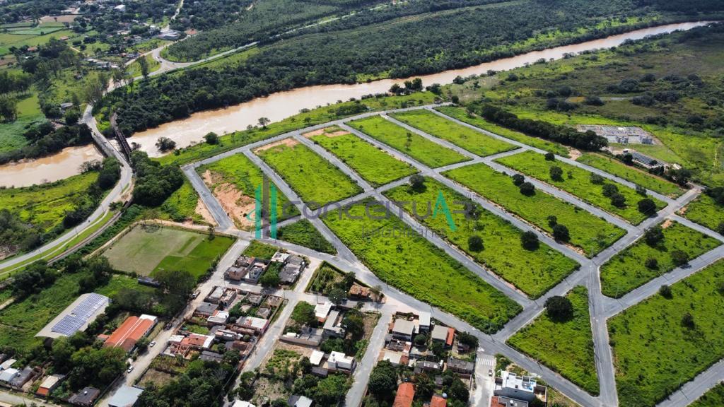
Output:
<path fill-rule="evenodd" d="M 367 117 L 347 124 L 431 168 L 468 161 L 466 156 L 405 130 L 380 116 Z"/>

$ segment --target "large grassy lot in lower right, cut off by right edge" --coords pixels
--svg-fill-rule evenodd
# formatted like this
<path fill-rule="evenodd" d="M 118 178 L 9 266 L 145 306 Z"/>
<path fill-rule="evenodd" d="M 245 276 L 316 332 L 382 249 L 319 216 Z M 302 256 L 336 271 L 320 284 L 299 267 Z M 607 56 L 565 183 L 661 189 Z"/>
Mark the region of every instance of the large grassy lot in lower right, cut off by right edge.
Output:
<path fill-rule="evenodd" d="M 718 261 L 608 320 L 621 406 L 654 406 L 724 357 L 723 280 Z"/>

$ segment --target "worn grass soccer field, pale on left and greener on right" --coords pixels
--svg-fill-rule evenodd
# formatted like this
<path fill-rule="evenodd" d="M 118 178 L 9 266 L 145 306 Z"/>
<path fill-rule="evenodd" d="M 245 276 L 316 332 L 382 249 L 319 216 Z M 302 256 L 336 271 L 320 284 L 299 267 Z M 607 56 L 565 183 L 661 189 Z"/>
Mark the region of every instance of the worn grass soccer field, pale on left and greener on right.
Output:
<path fill-rule="evenodd" d="M 209 240 L 209 235 L 188 230 L 137 225 L 103 256 L 121 272 L 147 276 L 157 269 L 185 270 L 198 278 L 232 243 L 224 236 Z"/>

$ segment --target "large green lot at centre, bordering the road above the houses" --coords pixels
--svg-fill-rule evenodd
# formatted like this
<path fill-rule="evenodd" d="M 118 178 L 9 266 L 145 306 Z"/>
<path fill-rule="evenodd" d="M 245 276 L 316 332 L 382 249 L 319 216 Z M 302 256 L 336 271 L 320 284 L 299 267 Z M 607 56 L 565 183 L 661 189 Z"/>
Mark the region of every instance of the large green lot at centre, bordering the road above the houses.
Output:
<path fill-rule="evenodd" d="M 521 306 L 408 229 L 394 215 L 365 216 L 362 201 L 348 216 L 327 214 L 324 223 L 374 274 L 420 301 L 431 303 L 484 332 L 495 332 L 521 311 Z M 383 210 L 378 207 L 371 210 Z M 354 219 L 359 218 L 359 219 Z"/>

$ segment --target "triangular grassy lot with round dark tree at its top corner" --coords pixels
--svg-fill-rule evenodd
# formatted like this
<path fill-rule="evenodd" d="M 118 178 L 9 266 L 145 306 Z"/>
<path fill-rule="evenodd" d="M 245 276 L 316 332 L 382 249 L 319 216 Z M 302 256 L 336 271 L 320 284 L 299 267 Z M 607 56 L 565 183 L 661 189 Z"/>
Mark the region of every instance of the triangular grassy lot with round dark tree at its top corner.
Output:
<path fill-rule="evenodd" d="M 558 322 L 544 311 L 508 339 L 508 344 L 560 373 L 592 395 L 599 394 L 589 316 L 588 290 L 578 286 L 566 297 L 573 318 Z"/>

